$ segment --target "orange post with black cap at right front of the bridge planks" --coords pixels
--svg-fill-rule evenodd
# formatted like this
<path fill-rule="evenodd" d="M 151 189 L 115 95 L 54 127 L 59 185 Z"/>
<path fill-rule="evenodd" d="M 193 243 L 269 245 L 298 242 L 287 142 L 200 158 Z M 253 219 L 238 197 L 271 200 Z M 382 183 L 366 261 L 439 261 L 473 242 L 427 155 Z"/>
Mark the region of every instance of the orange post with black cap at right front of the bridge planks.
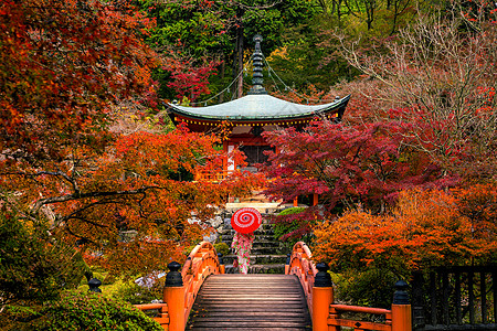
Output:
<path fill-rule="evenodd" d="M 328 274 L 328 265 L 316 265 L 313 287 L 313 331 L 328 331 L 329 306 L 334 302 L 334 288 Z"/>

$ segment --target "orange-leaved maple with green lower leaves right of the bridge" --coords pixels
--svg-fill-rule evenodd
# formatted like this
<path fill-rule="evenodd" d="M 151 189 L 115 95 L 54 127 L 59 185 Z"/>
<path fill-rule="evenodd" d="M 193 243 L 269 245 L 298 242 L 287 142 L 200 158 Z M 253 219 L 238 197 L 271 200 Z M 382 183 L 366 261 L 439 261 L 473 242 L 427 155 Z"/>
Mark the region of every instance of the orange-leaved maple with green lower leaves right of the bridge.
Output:
<path fill-rule="evenodd" d="M 495 183 L 402 191 L 391 213 L 348 210 L 316 226 L 313 255 L 339 273 L 342 299 L 388 307 L 388 289 L 399 278 L 495 261 L 496 192 Z"/>

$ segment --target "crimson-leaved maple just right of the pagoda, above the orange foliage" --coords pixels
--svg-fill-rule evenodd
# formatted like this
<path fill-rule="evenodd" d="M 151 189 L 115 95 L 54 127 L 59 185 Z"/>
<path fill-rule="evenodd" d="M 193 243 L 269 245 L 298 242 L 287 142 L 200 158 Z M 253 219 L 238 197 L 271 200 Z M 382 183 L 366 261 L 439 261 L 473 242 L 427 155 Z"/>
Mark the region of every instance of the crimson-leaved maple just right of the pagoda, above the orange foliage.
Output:
<path fill-rule="evenodd" d="M 394 131 L 402 127 L 320 120 L 303 131 L 266 132 L 277 150 L 268 152 L 271 164 L 264 168 L 266 193 L 285 202 L 316 193 L 329 212 L 357 204 L 384 212 L 401 190 L 454 184 L 426 154 L 391 136 Z"/>

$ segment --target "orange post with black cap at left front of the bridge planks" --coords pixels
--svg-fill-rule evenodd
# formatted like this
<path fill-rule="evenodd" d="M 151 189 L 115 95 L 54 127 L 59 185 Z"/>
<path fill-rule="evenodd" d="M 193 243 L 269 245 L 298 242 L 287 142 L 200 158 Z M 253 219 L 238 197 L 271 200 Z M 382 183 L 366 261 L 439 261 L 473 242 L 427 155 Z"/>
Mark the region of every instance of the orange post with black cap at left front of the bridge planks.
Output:
<path fill-rule="evenodd" d="M 172 261 L 168 265 L 169 273 L 166 276 L 163 288 L 163 302 L 168 303 L 169 331 L 184 331 L 184 288 L 179 268 L 181 265 Z"/>

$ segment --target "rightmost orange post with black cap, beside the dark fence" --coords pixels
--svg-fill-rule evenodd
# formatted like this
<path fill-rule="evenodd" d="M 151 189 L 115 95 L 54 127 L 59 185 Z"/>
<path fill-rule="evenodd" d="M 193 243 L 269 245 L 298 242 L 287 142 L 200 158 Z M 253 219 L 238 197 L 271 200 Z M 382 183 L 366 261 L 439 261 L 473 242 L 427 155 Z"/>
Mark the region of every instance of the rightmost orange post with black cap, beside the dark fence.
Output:
<path fill-rule="evenodd" d="M 395 282 L 395 293 L 392 303 L 392 331 L 411 331 L 412 314 L 409 296 L 405 289 L 408 284 L 404 280 Z"/>

